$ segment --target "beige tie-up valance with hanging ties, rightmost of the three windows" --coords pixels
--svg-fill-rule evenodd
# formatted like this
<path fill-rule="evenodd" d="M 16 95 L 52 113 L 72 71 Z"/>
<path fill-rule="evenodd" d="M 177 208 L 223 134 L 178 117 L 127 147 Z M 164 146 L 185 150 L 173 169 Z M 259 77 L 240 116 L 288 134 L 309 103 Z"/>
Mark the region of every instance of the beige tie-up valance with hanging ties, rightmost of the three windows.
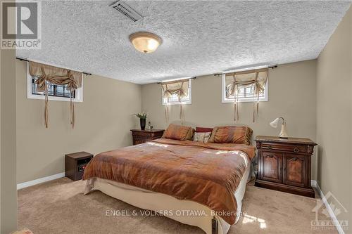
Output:
<path fill-rule="evenodd" d="M 256 114 L 259 115 L 259 96 L 265 90 L 268 81 L 268 68 L 249 70 L 243 72 L 232 72 L 225 74 L 226 97 L 234 96 L 234 121 L 239 119 L 238 96 L 239 90 L 243 87 L 253 86 L 253 122 L 256 121 Z"/>

